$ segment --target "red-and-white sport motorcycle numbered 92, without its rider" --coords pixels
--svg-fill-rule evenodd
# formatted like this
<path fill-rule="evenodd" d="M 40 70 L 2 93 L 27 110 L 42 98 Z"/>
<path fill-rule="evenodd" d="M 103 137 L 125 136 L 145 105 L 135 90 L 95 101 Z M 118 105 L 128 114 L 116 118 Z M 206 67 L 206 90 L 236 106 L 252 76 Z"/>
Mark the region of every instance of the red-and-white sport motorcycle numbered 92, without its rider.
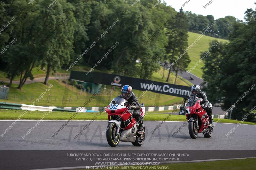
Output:
<path fill-rule="evenodd" d="M 127 100 L 116 97 L 106 107 L 108 113 L 108 126 L 106 137 L 111 147 L 116 147 L 121 142 L 132 142 L 134 146 L 141 146 L 145 141 L 145 126 L 143 133 L 138 133 L 139 124 L 132 117 L 132 110 L 126 104 Z M 144 103 L 141 104 L 141 116 L 145 116 Z"/>

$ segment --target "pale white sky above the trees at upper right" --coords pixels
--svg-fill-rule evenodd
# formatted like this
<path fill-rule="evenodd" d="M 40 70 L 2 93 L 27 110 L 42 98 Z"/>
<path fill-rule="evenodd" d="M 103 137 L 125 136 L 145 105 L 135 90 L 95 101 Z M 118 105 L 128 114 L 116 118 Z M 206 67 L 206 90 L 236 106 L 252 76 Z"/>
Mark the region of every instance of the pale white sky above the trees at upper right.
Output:
<path fill-rule="evenodd" d="M 165 0 L 168 6 L 172 6 L 176 11 L 189 0 Z M 210 0 L 209 0 L 210 1 Z M 223 18 L 227 15 L 244 20 L 244 12 L 247 8 L 255 10 L 256 0 L 212 0 L 212 4 L 204 8 L 208 0 L 190 0 L 183 8 L 184 11 L 191 11 L 195 14 L 213 15 L 214 19 Z"/>

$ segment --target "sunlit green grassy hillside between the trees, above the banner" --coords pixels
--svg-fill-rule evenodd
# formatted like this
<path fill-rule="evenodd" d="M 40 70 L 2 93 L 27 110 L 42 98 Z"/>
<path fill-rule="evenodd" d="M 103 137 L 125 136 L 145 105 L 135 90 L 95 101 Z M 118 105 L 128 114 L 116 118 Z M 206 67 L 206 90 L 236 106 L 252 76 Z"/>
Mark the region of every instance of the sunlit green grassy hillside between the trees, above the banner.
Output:
<path fill-rule="evenodd" d="M 200 36 L 201 34 L 198 33 L 192 33 L 192 32 L 188 32 L 188 45 L 192 44 L 195 39 L 198 38 L 198 36 Z M 191 59 L 190 64 L 188 65 L 188 70 L 194 65 L 196 64 L 196 62 L 200 59 L 200 54 L 201 52 L 207 51 L 209 50 L 209 43 L 212 40 L 219 40 L 222 42 L 228 42 L 228 40 L 224 40 L 224 39 L 219 39 L 219 38 L 213 38 L 213 37 L 209 37 L 209 36 L 203 36 L 199 41 L 197 41 L 196 45 L 194 45 L 192 48 L 190 48 L 190 50 L 188 51 L 188 55 Z M 194 70 L 191 71 L 192 74 L 202 78 L 202 67 L 204 66 L 204 62 L 199 63 L 196 68 Z"/>

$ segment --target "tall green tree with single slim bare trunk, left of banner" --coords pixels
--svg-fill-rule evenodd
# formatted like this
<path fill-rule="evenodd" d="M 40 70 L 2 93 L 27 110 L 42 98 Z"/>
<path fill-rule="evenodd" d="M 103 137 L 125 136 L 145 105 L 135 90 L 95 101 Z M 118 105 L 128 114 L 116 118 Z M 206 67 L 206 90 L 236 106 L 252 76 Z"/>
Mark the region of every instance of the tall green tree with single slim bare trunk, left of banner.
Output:
<path fill-rule="evenodd" d="M 38 20 L 44 32 L 42 60 L 47 63 L 47 72 L 44 84 L 48 85 L 50 71 L 56 71 L 70 61 L 70 52 L 73 46 L 74 25 L 76 20 L 73 15 L 74 6 L 64 0 L 53 5 L 50 9 L 43 8 L 51 1 L 42 1 Z M 63 8 L 65 6 L 65 8 Z M 66 45 L 63 45 L 66 42 Z"/>

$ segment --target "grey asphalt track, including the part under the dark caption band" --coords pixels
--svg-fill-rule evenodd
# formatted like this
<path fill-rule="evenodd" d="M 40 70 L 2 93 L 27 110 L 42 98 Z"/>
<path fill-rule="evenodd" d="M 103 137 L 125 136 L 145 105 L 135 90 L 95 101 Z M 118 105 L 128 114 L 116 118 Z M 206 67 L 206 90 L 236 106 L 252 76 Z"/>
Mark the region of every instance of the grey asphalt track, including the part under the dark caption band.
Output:
<path fill-rule="evenodd" d="M 0 121 L 0 135 L 12 122 Z M 256 141 L 256 126 L 254 125 L 237 126 L 236 124 L 218 123 L 215 125 L 211 138 L 205 138 L 203 134 L 199 134 L 198 138 L 193 140 L 189 136 L 188 125 L 184 122 L 164 122 L 152 134 L 152 130 L 161 121 L 145 121 L 147 136 L 141 147 L 135 147 L 130 142 L 120 142 L 117 147 L 112 148 L 108 145 L 105 134 L 102 134 L 108 121 L 91 121 L 90 126 L 90 121 L 70 121 L 55 137 L 53 137 L 54 133 L 66 121 L 43 121 L 30 134 L 23 136 L 36 122 L 38 121 L 17 121 L 10 131 L 0 136 L 0 169 L 90 169 L 125 163 L 125 161 L 104 161 L 104 158 L 113 158 L 112 155 L 72 156 L 74 153 L 155 154 L 156 156 L 150 155 L 147 158 L 156 159 L 157 157 L 158 163 L 161 164 L 256 157 L 256 152 L 253 150 Z M 183 124 L 185 126 L 180 132 L 172 135 Z M 86 125 L 89 128 L 74 139 L 73 137 Z M 234 127 L 236 128 L 234 133 L 227 137 L 226 134 Z M 68 156 L 69 154 L 71 156 Z M 161 156 L 157 154 L 181 154 L 181 156 L 165 156 L 160 160 Z M 146 160 L 145 155 L 120 155 L 116 158 L 133 159 L 132 163 L 140 163 L 136 165 L 142 165 L 143 162 L 152 163 Z M 144 160 L 137 160 L 137 158 Z M 97 164 L 97 162 L 102 164 Z"/>

